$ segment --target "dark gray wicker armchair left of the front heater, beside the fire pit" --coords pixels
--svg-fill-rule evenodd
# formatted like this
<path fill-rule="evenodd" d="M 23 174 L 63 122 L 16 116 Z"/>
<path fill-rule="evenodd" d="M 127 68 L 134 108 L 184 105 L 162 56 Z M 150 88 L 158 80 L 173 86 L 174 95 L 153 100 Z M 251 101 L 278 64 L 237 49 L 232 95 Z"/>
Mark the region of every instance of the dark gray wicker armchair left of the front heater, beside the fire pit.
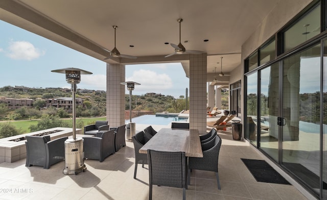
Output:
<path fill-rule="evenodd" d="M 65 158 L 65 141 L 68 137 L 50 141 L 50 136 L 26 136 L 26 166 L 42 166 L 49 169 L 51 165 Z"/>

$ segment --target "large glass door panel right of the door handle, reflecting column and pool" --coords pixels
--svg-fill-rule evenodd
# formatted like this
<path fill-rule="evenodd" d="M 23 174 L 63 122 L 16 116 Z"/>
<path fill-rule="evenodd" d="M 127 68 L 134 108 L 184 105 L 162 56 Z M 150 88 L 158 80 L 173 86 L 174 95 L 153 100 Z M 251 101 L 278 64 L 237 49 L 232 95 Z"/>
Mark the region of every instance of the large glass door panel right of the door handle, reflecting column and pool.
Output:
<path fill-rule="evenodd" d="M 282 165 L 319 193 L 320 45 L 283 60 Z"/>

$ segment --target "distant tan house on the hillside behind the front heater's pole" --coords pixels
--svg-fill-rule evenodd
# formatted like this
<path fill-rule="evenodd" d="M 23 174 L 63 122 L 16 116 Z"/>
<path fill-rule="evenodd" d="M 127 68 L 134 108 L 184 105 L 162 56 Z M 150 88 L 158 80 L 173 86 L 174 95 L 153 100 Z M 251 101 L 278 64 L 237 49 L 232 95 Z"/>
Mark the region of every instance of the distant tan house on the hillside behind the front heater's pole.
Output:
<path fill-rule="evenodd" d="M 64 108 L 67 110 L 73 109 L 73 98 L 72 97 L 60 97 L 52 99 L 44 99 L 46 107 Z M 83 99 L 76 98 L 76 106 L 83 105 Z"/>

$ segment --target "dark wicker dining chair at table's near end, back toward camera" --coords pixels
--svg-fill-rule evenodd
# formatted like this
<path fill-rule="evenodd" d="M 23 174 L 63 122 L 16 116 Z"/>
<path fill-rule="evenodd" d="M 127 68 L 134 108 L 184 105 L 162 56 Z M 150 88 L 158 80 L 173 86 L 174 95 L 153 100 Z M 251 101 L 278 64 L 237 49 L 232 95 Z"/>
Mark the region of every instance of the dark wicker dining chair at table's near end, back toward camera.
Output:
<path fill-rule="evenodd" d="M 149 200 L 152 200 L 152 185 L 183 188 L 185 200 L 187 162 L 185 152 L 168 152 L 148 149 Z"/>

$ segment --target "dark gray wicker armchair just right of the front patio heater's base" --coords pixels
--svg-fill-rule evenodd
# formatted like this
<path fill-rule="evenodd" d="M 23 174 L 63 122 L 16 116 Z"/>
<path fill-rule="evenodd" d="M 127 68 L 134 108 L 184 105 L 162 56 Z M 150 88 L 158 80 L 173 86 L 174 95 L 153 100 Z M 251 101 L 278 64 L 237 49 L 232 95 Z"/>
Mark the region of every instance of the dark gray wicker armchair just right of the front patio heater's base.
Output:
<path fill-rule="evenodd" d="M 84 157 L 85 159 L 104 161 L 110 154 L 114 154 L 114 129 L 98 132 L 96 137 L 85 137 Z"/>

